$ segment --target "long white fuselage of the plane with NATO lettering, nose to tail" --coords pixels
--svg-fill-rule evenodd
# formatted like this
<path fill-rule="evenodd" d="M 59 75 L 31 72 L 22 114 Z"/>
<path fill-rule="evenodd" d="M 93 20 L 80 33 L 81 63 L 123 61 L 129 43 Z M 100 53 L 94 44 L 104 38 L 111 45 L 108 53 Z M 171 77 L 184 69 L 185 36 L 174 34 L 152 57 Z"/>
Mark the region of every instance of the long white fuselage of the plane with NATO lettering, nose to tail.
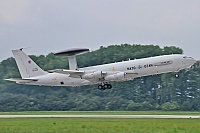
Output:
<path fill-rule="evenodd" d="M 85 74 L 101 71 L 104 76 L 122 73 L 128 75 L 123 80 L 113 81 L 126 81 L 133 80 L 137 77 L 155 75 L 167 72 L 178 72 L 182 69 L 191 67 L 196 60 L 184 55 L 163 55 L 143 59 L 135 59 L 129 61 L 122 61 L 117 63 L 110 63 L 104 65 L 97 65 L 85 68 L 79 68 L 79 71 L 84 71 Z M 47 73 L 41 76 L 32 77 L 38 79 L 35 82 L 20 83 L 30 85 L 45 85 L 45 86 L 82 86 L 90 84 L 98 84 L 102 82 L 110 82 L 104 79 L 90 79 L 86 80 L 82 77 L 73 78 L 70 74 L 60 73 Z M 112 81 L 112 80 L 111 80 Z"/>

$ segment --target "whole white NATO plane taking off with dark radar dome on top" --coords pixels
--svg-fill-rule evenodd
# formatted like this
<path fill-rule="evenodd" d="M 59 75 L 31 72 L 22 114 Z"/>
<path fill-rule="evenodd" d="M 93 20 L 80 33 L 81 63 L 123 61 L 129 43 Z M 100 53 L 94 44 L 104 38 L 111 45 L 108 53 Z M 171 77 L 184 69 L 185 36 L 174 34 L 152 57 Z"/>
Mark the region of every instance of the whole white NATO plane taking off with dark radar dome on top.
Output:
<path fill-rule="evenodd" d="M 163 55 L 137 60 L 78 68 L 76 55 L 89 49 L 68 49 L 55 55 L 67 56 L 69 68 L 42 70 L 22 49 L 12 50 L 22 78 L 5 79 L 18 84 L 39 86 L 83 86 L 99 84 L 98 89 L 111 89 L 109 82 L 128 81 L 137 77 L 178 72 L 191 67 L 196 60 L 185 55 Z M 178 75 L 177 75 L 178 77 Z"/>

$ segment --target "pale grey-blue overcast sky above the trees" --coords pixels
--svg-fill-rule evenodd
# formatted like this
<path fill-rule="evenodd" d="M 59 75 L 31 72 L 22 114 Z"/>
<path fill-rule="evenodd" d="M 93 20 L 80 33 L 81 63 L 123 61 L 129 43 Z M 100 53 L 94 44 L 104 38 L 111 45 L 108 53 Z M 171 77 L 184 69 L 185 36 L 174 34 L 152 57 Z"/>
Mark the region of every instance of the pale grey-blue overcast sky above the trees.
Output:
<path fill-rule="evenodd" d="M 176 46 L 200 59 L 199 0 L 0 0 L 0 61 L 115 44 Z"/>

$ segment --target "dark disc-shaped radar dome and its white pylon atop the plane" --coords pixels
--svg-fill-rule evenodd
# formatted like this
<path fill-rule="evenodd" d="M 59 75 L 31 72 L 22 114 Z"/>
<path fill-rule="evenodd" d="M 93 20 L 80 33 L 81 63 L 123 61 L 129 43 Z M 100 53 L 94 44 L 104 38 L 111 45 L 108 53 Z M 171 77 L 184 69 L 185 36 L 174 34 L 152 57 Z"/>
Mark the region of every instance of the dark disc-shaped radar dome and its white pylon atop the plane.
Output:
<path fill-rule="evenodd" d="M 61 52 L 57 52 L 54 55 L 67 56 L 69 60 L 69 69 L 78 70 L 76 55 L 83 54 L 88 51 L 89 49 L 86 49 L 86 48 L 72 48 L 72 49 L 63 50 Z"/>

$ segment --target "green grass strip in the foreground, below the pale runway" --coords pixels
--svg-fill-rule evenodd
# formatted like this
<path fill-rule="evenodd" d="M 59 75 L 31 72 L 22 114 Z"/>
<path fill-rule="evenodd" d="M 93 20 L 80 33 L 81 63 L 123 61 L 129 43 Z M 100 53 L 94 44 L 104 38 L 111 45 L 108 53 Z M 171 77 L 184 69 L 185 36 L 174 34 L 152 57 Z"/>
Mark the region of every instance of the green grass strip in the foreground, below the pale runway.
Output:
<path fill-rule="evenodd" d="M 0 132 L 16 133 L 199 133 L 200 119 L 12 118 Z"/>

